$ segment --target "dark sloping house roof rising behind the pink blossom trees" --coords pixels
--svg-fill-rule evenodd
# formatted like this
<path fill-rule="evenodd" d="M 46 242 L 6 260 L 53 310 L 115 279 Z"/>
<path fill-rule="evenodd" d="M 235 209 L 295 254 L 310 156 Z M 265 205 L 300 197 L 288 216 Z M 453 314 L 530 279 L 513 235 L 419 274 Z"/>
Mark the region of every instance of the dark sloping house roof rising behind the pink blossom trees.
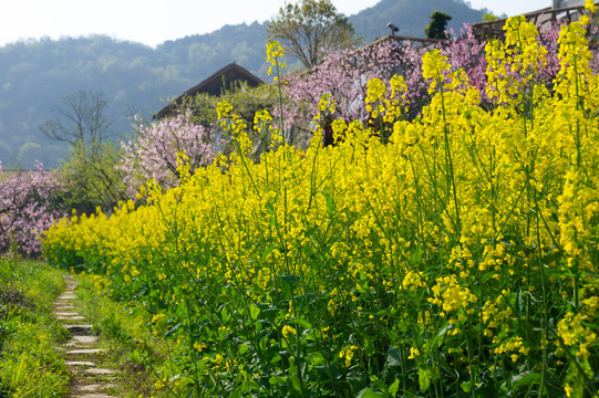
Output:
<path fill-rule="evenodd" d="M 221 67 L 209 77 L 199 82 L 185 93 L 176 97 L 164 108 L 158 111 L 153 117 L 161 119 L 166 116 L 171 116 L 177 112 L 177 107 L 183 104 L 186 98 L 194 97 L 199 93 L 207 93 L 210 95 L 220 95 L 223 90 L 230 87 L 235 82 L 246 82 L 250 87 L 256 87 L 264 83 L 262 80 L 245 67 L 236 64 L 235 62 Z"/>

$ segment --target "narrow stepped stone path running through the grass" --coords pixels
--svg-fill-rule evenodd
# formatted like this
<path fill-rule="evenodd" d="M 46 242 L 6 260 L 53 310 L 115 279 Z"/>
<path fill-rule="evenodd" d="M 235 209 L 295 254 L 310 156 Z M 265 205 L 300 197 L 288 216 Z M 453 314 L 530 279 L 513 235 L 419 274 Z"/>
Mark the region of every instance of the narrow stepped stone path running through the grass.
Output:
<path fill-rule="evenodd" d="M 92 325 L 76 312 L 78 282 L 72 275 L 64 275 L 64 292 L 53 305 L 54 317 L 71 333 L 71 339 L 61 348 L 65 353 L 65 364 L 73 374 L 71 379 L 72 398 L 110 398 L 110 390 L 116 386 L 115 370 L 100 366 L 106 350 L 100 347 L 100 337 L 92 335 Z"/>

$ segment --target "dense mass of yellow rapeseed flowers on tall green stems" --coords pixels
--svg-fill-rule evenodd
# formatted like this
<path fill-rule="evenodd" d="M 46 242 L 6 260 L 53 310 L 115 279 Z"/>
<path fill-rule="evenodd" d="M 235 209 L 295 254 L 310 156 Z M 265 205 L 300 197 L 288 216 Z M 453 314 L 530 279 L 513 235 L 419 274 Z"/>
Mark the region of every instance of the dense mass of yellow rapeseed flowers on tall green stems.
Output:
<path fill-rule="evenodd" d="M 536 28 L 510 19 L 506 43 L 487 45 L 493 111 L 434 51 L 423 66 L 431 104 L 419 118 L 402 117 L 402 77 L 373 80 L 376 130 L 334 121 L 335 146 L 312 139 L 300 150 L 277 138 L 259 163 L 247 126 L 219 103 L 237 145 L 229 158 L 189 175 L 182 155 L 180 186 L 149 181 L 147 206 L 61 220 L 45 234 L 45 255 L 104 274 L 112 291 L 156 314 L 153 324 L 165 314 L 196 325 L 178 333 L 193 355 L 210 342 L 207 373 L 289 349 L 281 341 L 293 335 L 347 367 L 358 353 L 382 347 L 386 357 L 406 335 L 427 338 L 410 354 L 404 346 L 406 357 L 461 353 L 473 378 L 476 360 L 465 358 L 483 352 L 520 362 L 568 349 L 579 356 L 564 357 L 572 369 L 596 363 L 599 83 L 582 31 L 562 31 L 555 94 L 535 78 L 546 62 Z M 281 66 L 277 44 L 268 56 Z M 319 111 L 334 112 L 331 96 Z M 259 113 L 255 128 L 266 137 L 271 121 Z M 242 338 L 259 339 L 254 350 L 227 343 Z M 268 371 L 282 363 L 270 358 Z"/>

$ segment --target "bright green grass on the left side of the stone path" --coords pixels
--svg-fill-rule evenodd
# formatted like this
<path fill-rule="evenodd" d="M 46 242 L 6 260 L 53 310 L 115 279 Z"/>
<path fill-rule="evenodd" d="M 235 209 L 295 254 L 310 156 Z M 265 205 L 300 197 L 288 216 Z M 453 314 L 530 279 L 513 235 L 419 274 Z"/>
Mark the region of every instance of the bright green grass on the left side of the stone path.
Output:
<path fill-rule="evenodd" d="M 61 272 L 41 262 L 0 258 L 0 397 L 62 397 L 69 370 L 55 346 L 66 332 L 48 308 Z"/>

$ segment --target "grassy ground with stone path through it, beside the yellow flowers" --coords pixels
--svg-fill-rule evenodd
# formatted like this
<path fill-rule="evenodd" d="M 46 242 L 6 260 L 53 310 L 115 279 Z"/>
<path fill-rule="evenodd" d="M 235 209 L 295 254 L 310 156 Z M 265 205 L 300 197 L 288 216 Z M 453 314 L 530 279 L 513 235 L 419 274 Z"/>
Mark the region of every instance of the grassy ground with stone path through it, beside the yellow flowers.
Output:
<path fill-rule="evenodd" d="M 147 315 L 94 282 L 0 256 L 0 398 L 167 394 L 155 386 L 167 354 L 145 328 Z"/>

